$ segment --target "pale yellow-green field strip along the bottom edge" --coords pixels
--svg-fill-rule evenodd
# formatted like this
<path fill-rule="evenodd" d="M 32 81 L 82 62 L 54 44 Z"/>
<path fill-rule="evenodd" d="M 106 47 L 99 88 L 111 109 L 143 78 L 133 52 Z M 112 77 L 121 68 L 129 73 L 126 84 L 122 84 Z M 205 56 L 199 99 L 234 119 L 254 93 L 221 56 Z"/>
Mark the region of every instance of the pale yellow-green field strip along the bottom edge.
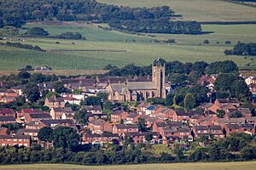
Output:
<path fill-rule="evenodd" d="M 246 162 L 224 162 L 224 163 L 172 163 L 172 164 L 144 164 L 144 165 L 119 165 L 119 166 L 79 166 L 79 165 L 67 165 L 67 164 L 32 164 L 32 165 L 8 165 L 0 166 L 0 169 L 90 169 L 90 170 L 100 170 L 100 169 L 111 169 L 111 170 L 253 170 L 255 169 L 256 161 L 246 161 Z"/>

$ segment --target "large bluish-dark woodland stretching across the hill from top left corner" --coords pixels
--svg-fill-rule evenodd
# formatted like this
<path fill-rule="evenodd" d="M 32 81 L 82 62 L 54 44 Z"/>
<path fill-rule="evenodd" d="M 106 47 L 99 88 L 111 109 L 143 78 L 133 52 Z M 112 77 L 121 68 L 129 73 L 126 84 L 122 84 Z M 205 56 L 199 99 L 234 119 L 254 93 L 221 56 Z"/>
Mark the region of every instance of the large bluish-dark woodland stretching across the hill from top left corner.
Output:
<path fill-rule="evenodd" d="M 175 16 L 175 12 L 168 6 L 129 8 L 97 3 L 95 0 L 3 0 L 0 2 L 0 11 L 0 27 L 21 27 L 26 21 L 56 18 L 60 21 L 106 22 L 115 29 L 122 28 L 126 31 L 201 33 L 198 22 L 169 21 Z"/>

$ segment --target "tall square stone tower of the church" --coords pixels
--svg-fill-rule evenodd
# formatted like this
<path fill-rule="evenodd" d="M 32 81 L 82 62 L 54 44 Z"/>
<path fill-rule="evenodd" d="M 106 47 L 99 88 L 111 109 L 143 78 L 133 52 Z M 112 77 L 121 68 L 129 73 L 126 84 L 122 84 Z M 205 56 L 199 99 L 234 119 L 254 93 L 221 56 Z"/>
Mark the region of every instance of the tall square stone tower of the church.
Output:
<path fill-rule="evenodd" d="M 152 82 L 157 88 L 155 97 L 166 99 L 166 61 L 165 59 L 155 59 L 152 65 Z"/>

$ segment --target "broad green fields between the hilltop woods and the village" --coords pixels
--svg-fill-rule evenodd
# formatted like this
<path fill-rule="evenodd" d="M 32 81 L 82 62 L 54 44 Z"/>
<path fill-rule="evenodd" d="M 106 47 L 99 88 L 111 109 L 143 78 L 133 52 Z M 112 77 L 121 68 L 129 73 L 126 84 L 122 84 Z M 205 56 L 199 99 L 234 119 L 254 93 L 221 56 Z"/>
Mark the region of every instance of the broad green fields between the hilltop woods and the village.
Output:
<path fill-rule="evenodd" d="M 26 38 L 26 42 L 21 42 L 38 45 L 46 52 L 0 46 L 0 70 L 18 70 L 26 65 L 48 65 L 54 70 L 102 70 L 108 64 L 119 67 L 131 63 L 149 65 L 157 57 L 182 62 L 231 59 L 240 67 L 251 63 L 249 67 L 256 68 L 255 59 L 224 55 L 224 49 L 232 48 L 238 41 L 256 42 L 256 25 L 203 25 L 203 31 L 212 32 L 203 35 L 132 35 L 102 30 L 96 25 L 49 26 L 32 23 L 24 26 L 20 32 L 25 32 L 33 26 L 43 27 L 50 35 L 66 31 L 81 32 L 86 40 Z M 155 39 L 169 38 L 175 39 L 176 43 L 154 42 Z M 209 44 L 203 43 L 206 39 L 209 40 Z M 225 41 L 231 41 L 231 44 L 226 45 Z M 12 38 L 12 42 L 20 41 Z"/>

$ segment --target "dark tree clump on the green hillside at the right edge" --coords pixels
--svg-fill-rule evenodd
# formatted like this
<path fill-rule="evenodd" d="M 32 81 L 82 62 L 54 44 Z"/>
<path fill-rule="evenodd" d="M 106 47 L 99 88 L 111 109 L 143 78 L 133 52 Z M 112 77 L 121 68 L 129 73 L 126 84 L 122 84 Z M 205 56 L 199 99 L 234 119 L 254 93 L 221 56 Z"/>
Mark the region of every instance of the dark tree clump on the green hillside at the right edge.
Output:
<path fill-rule="evenodd" d="M 237 42 L 233 49 L 226 49 L 226 55 L 256 55 L 256 43 Z"/>

